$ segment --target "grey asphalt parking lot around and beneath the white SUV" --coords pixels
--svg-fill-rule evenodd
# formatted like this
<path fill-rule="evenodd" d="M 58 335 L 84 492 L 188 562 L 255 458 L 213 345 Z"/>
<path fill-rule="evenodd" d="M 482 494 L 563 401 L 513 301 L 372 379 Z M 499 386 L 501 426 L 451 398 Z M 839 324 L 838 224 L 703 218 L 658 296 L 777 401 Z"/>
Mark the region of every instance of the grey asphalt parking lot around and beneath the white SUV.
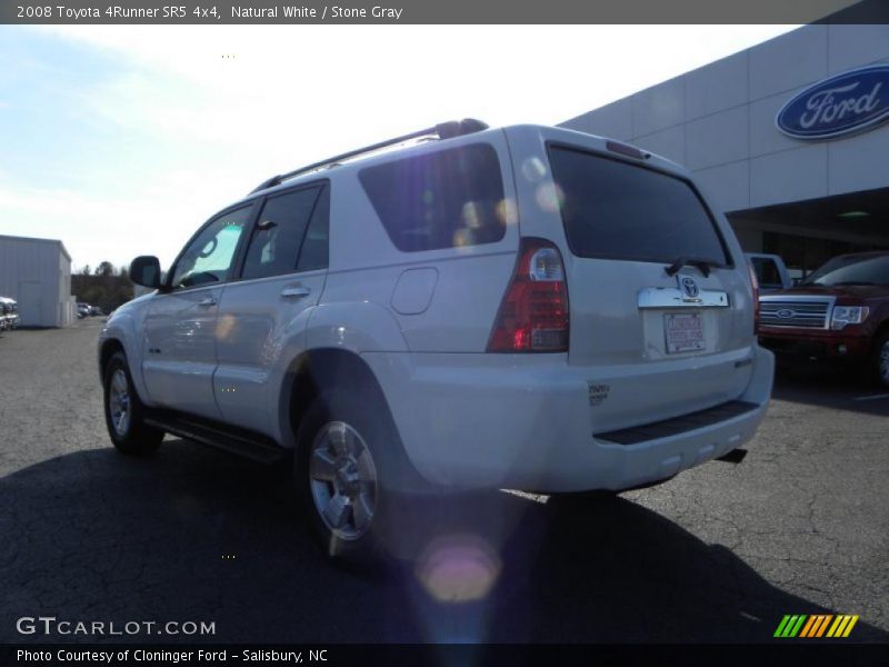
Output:
<path fill-rule="evenodd" d="M 112 450 L 100 326 L 0 335 L 2 641 L 156 639 L 17 631 L 38 616 L 214 623 L 162 641 L 773 641 L 817 613 L 889 641 L 889 396 L 853 379 L 780 377 L 738 466 L 610 500 L 460 499 L 421 517 L 414 565 L 342 571 L 281 469 L 169 437 Z"/>

